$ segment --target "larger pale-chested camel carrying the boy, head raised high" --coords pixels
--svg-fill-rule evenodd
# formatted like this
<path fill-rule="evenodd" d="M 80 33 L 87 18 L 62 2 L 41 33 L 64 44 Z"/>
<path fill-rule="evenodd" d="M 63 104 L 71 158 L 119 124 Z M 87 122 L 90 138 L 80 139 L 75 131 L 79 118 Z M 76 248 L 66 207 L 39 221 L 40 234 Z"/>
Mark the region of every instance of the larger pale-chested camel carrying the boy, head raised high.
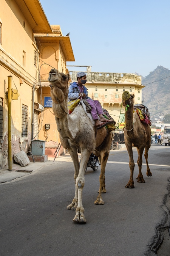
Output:
<path fill-rule="evenodd" d="M 86 115 L 82 105 L 77 106 L 71 115 L 68 114 L 68 80 L 69 75 L 51 69 L 48 81 L 51 83 L 51 97 L 53 100 L 53 112 L 56 118 L 57 129 L 64 148 L 68 148 L 74 164 L 75 196 L 67 209 L 76 210 L 73 221 L 86 223 L 82 204 L 82 192 L 85 184 L 85 170 L 92 151 L 99 157 L 101 164 L 99 195 L 95 204 L 104 204 L 102 193 L 105 190 L 105 166 L 110 152 L 112 132 L 105 127 L 97 130 L 95 136 L 94 125 Z M 81 152 L 81 163 L 77 149 Z"/>

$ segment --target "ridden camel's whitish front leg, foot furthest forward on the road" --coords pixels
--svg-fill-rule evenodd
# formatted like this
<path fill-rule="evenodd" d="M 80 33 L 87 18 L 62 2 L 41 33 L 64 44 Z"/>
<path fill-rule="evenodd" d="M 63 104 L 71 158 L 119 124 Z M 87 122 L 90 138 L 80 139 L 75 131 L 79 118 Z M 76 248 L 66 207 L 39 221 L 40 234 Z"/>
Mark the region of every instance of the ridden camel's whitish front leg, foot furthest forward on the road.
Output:
<path fill-rule="evenodd" d="M 76 186 L 78 189 L 78 204 L 76 208 L 76 215 L 73 219 L 75 222 L 80 222 L 80 223 L 86 223 L 86 219 L 84 216 L 84 208 L 83 208 L 83 203 L 82 203 L 82 198 L 83 198 L 83 187 L 85 183 L 85 170 L 87 166 L 88 159 L 90 157 L 91 152 L 88 151 L 87 149 L 82 149 L 81 148 L 81 163 L 80 163 L 80 169 L 79 169 L 79 175 L 76 179 Z"/>

